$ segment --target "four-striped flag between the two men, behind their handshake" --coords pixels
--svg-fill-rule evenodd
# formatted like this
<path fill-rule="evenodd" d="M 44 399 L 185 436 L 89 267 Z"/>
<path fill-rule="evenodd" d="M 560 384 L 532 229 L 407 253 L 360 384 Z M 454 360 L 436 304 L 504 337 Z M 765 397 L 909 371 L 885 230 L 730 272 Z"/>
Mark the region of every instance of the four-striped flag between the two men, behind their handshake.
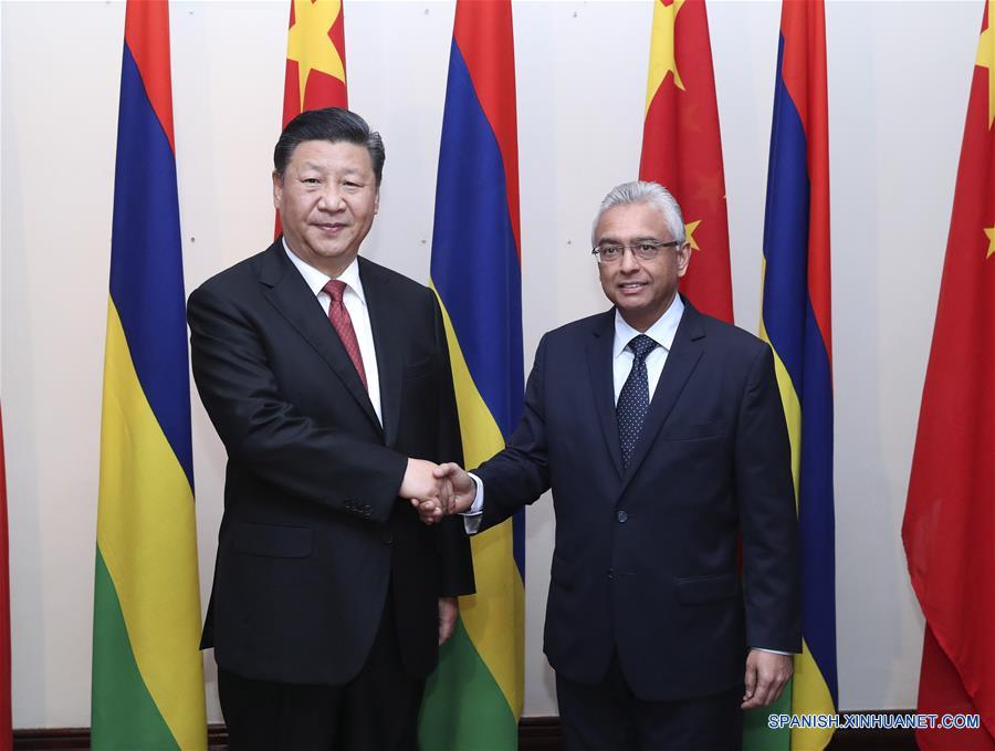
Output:
<path fill-rule="evenodd" d="M 436 187 L 442 304 L 463 457 L 504 448 L 522 413 L 522 283 L 510 0 L 458 0 Z M 429 681 L 425 749 L 514 749 L 522 711 L 524 519 L 472 540 L 476 594 Z"/>

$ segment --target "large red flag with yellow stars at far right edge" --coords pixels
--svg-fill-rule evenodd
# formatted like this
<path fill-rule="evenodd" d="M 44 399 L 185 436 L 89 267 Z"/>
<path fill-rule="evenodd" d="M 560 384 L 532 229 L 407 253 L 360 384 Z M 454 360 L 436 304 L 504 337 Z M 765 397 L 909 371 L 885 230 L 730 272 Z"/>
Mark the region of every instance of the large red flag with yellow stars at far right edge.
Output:
<path fill-rule="evenodd" d="M 902 541 L 926 628 L 921 749 L 995 749 L 995 0 L 971 83 Z"/>

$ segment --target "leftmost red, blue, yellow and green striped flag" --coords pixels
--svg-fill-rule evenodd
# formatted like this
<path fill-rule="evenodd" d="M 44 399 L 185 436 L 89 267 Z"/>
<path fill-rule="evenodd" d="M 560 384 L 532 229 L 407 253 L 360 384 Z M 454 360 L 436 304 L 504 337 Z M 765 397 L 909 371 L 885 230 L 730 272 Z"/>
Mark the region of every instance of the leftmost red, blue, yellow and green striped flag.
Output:
<path fill-rule="evenodd" d="M 203 749 L 190 379 L 165 0 L 125 17 L 93 605 L 93 748 Z"/>

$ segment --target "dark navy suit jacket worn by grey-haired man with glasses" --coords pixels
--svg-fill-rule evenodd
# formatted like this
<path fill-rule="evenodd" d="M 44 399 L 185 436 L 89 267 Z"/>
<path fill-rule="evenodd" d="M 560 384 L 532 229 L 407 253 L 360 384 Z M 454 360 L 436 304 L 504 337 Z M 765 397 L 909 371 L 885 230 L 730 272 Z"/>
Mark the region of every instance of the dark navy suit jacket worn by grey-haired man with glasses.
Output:
<path fill-rule="evenodd" d="M 611 310 L 543 337 L 522 421 L 476 470 L 481 529 L 552 487 L 553 668 L 594 684 L 617 649 L 641 699 L 716 693 L 742 684 L 747 645 L 800 650 L 797 522 L 773 355 L 688 304 L 624 470 L 614 336 Z"/>

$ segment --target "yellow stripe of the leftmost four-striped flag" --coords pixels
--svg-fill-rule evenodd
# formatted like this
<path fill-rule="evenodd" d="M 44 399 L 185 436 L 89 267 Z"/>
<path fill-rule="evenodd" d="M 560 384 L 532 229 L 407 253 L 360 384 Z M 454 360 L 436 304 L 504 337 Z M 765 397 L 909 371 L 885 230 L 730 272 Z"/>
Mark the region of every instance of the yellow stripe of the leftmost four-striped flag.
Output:
<path fill-rule="evenodd" d="M 205 748 L 193 493 L 138 382 L 113 300 L 107 312 L 97 544 L 132 651 L 181 749 Z M 177 659 L 177 656 L 182 656 Z"/>

